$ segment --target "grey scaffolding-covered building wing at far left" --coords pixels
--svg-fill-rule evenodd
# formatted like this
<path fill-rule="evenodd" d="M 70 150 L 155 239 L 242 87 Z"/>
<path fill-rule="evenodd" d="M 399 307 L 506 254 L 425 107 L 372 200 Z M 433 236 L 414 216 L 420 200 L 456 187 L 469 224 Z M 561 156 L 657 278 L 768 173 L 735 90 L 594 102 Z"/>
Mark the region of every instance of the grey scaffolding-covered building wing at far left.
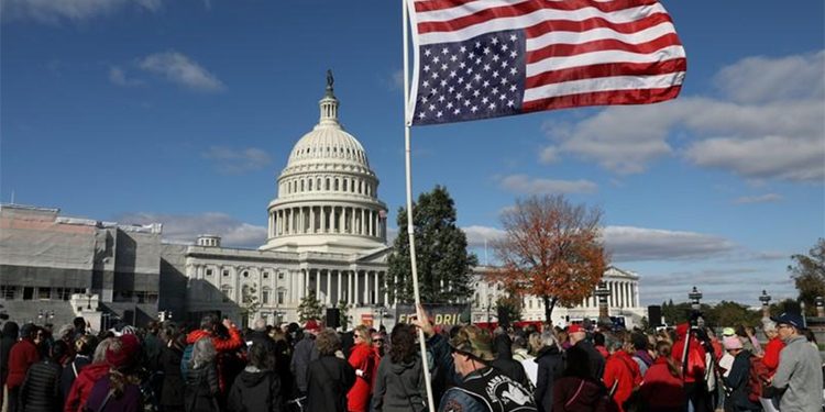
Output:
<path fill-rule="evenodd" d="M 161 230 L 2 204 L 0 300 L 19 322 L 145 323 L 157 313 Z"/>

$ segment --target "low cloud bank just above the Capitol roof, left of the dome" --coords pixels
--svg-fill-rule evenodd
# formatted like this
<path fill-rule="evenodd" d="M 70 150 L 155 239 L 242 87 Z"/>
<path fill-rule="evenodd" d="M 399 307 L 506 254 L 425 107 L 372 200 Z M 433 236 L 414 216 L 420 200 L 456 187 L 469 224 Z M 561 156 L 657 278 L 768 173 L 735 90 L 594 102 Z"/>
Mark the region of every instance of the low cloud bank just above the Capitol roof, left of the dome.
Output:
<path fill-rule="evenodd" d="M 163 238 L 173 243 L 195 243 L 198 235 L 216 234 L 221 245 L 256 248 L 266 242 L 266 227 L 241 222 L 224 213 L 162 214 L 125 213 L 117 216 L 121 223 L 163 223 Z"/>

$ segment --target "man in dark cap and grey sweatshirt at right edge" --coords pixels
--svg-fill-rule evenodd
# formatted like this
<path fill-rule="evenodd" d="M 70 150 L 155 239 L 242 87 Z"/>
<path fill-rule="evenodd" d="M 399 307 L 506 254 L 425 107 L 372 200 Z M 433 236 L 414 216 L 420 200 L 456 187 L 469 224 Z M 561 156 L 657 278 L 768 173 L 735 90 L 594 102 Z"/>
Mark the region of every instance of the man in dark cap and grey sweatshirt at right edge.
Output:
<path fill-rule="evenodd" d="M 822 359 L 802 334 L 802 316 L 785 312 L 771 321 L 777 323 L 779 337 L 785 343 L 771 381 L 774 388 L 784 390 L 779 410 L 822 411 Z"/>

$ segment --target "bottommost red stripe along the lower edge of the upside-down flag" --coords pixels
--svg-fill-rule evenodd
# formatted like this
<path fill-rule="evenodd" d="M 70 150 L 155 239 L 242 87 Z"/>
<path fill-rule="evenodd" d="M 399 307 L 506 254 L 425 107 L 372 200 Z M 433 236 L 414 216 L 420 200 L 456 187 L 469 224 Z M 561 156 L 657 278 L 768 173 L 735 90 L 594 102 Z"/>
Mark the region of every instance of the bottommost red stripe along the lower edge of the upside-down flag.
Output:
<path fill-rule="evenodd" d="M 542 110 L 568 109 L 584 105 L 604 104 L 647 104 L 675 99 L 681 86 L 663 87 L 659 89 L 596 91 L 581 94 L 566 94 L 525 102 L 524 112 Z"/>

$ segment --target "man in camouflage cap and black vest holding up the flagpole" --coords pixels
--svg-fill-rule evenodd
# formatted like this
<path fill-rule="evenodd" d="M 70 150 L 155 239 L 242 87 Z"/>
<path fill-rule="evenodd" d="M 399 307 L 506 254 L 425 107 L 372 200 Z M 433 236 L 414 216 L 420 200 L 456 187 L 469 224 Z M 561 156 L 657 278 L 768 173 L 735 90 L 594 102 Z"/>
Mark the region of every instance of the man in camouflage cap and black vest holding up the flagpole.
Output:
<path fill-rule="evenodd" d="M 475 326 L 461 326 L 450 339 L 435 333 L 432 323 L 419 307 L 415 324 L 427 336 L 433 361 L 454 368 L 459 375 L 454 387 L 441 397 L 439 412 L 535 412 L 532 393 L 498 369 L 490 366 L 493 337 Z"/>

